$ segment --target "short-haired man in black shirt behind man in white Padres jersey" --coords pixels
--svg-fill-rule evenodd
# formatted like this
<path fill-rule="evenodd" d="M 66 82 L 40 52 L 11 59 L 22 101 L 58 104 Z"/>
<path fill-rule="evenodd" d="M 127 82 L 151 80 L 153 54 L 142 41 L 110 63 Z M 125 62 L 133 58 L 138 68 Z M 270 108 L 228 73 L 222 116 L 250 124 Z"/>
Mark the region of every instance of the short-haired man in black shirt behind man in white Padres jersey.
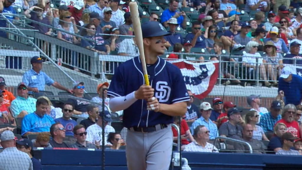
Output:
<path fill-rule="evenodd" d="M 87 119 L 84 119 L 80 122 L 80 125 L 83 125 L 85 129 L 87 129 L 89 126 L 93 125 L 96 123 L 98 119 L 98 114 L 99 114 L 99 109 L 98 106 L 89 104 L 87 106 L 87 113 L 89 117 Z"/>

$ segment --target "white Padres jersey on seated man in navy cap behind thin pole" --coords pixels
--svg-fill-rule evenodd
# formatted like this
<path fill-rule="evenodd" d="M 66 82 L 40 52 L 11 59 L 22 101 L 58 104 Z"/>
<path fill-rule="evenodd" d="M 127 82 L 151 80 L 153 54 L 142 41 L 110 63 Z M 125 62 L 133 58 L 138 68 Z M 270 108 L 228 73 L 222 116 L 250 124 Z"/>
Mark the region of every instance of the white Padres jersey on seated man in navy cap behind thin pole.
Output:
<path fill-rule="evenodd" d="M 95 141 L 100 141 L 100 144 L 102 144 L 102 132 L 103 129 L 98 124 L 93 124 L 91 126 L 88 126 L 87 128 L 87 138 L 86 140 L 92 143 L 95 143 Z M 107 142 L 108 134 L 110 132 L 115 132 L 114 128 L 110 125 L 105 126 L 105 145 L 111 145 L 111 143 Z"/>

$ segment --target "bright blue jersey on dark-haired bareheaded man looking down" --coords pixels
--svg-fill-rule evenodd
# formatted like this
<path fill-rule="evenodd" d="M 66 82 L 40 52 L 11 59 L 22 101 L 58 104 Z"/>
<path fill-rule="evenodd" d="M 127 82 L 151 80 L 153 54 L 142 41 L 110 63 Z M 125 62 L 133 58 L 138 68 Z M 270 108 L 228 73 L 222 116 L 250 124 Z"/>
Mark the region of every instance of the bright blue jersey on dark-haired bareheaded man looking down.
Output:
<path fill-rule="evenodd" d="M 27 132 L 50 132 L 50 126 L 54 123 L 53 118 L 47 114 L 42 117 L 35 112 L 28 114 L 22 120 L 21 135 Z"/>

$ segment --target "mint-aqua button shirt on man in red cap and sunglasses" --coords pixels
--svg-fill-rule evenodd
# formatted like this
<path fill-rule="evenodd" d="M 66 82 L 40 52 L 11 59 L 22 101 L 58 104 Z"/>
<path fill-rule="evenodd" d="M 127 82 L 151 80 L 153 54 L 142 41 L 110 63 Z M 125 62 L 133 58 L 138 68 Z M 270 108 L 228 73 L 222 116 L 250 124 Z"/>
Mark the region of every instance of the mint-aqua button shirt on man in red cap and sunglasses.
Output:
<path fill-rule="evenodd" d="M 27 113 L 33 113 L 36 110 L 37 99 L 32 97 L 17 96 L 15 100 L 11 102 L 11 111 L 14 117 L 17 117 L 21 111 L 27 111 Z"/>

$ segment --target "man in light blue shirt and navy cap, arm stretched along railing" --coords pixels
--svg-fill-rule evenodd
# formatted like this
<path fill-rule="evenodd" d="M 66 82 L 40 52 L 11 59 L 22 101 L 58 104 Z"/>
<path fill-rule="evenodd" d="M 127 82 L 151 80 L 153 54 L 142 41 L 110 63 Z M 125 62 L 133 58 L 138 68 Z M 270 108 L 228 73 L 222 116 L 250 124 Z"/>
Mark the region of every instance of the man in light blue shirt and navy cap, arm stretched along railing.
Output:
<path fill-rule="evenodd" d="M 39 92 L 39 90 L 45 89 L 45 84 L 48 86 L 56 87 L 57 89 L 67 91 L 69 93 L 72 93 L 71 89 L 67 89 L 66 87 L 62 86 L 60 83 L 54 81 L 51 79 L 46 73 L 44 73 L 42 70 L 42 58 L 35 56 L 31 58 L 31 65 L 33 68 L 27 72 L 24 73 L 22 82 L 27 84 L 29 93 L 32 92 Z"/>

